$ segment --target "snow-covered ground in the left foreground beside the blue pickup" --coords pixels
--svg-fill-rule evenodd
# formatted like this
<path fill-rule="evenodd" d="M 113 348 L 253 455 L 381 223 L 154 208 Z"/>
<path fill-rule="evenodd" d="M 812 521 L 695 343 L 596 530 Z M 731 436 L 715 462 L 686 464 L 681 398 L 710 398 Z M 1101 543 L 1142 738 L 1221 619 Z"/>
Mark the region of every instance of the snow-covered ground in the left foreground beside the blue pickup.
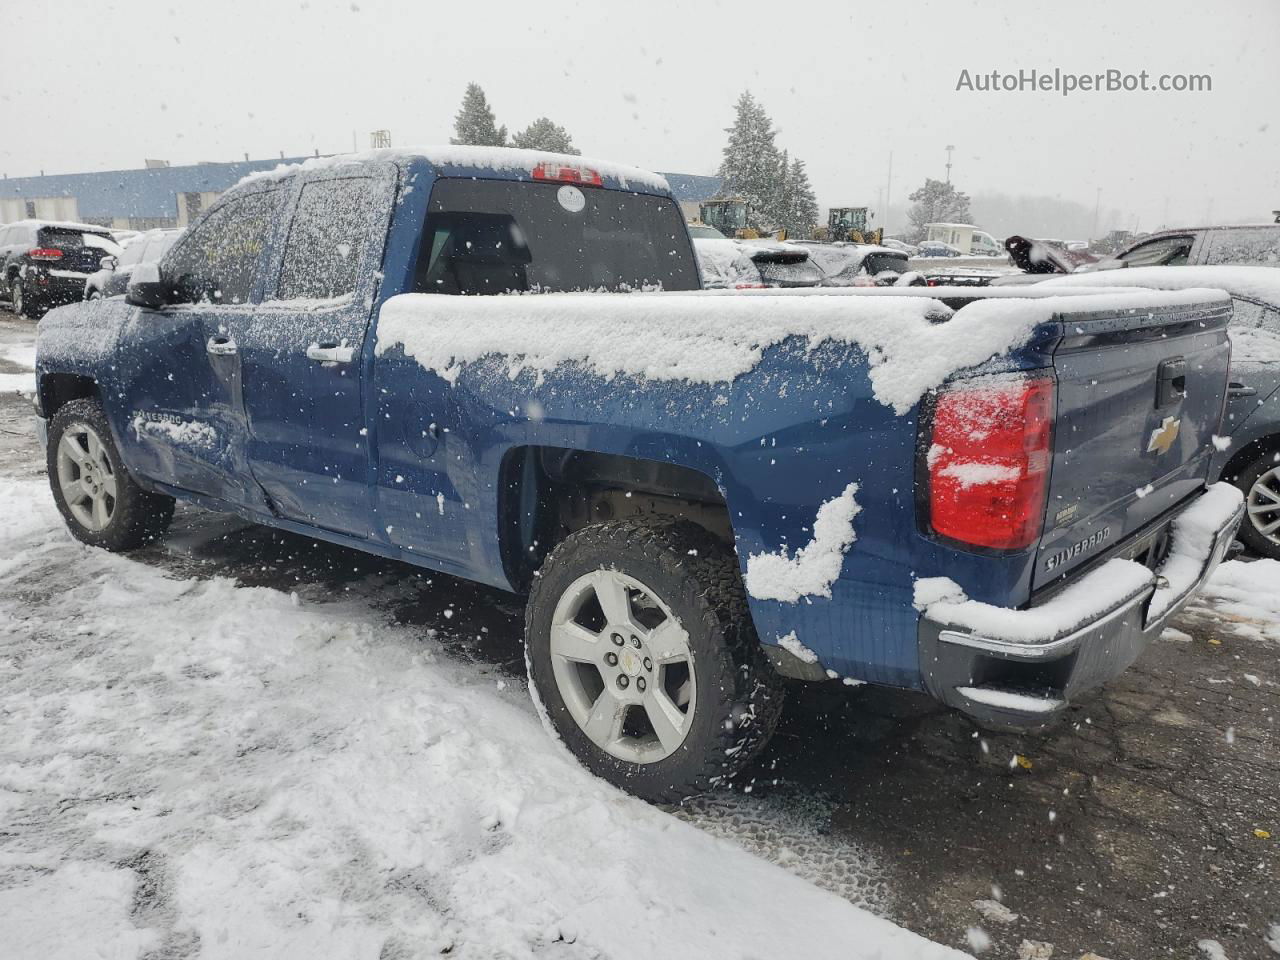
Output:
<path fill-rule="evenodd" d="M 960 956 L 594 780 L 365 600 L 84 548 L 40 480 L 0 480 L 0 703 L 6 957 Z"/>

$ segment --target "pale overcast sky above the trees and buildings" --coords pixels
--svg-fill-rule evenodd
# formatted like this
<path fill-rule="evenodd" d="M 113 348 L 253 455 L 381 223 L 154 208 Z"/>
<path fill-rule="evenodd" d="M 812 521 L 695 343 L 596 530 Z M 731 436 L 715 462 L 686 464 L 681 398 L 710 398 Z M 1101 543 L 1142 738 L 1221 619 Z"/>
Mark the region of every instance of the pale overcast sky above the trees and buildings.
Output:
<path fill-rule="evenodd" d="M 512 131 L 714 173 L 750 90 L 819 202 L 925 177 L 1061 196 L 1143 229 L 1280 207 L 1280 3 L 8 1 L 0 173 L 445 142 L 468 81 Z M 1207 73 L 1212 92 L 980 93 L 1019 69 Z M 1167 212 L 1166 212 L 1167 211 Z"/>

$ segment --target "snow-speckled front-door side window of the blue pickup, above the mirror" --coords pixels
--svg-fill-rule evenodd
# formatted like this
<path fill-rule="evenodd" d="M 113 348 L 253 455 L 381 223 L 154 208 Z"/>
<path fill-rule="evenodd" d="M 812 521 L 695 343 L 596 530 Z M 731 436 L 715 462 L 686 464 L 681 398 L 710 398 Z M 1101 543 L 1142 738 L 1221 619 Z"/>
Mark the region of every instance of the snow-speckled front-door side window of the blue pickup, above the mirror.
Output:
<path fill-rule="evenodd" d="M 164 259 L 165 276 L 187 303 L 247 303 L 262 276 L 266 241 L 280 191 L 253 193 L 218 207 Z"/>

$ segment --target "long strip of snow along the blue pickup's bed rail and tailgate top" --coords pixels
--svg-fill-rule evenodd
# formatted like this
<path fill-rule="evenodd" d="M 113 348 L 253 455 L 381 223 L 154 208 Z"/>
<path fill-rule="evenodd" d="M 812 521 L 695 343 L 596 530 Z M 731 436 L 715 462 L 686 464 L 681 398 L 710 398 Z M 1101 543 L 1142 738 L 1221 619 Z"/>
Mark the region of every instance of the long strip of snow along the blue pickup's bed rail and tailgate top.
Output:
<path fill-rule="evenodd" d="M 580 364 L 605 379 L 717 384 L 754 370 L 769 347 L 801 337 L 810 349 L 832 340 L 863 351 L 876 398 L 901 415 L 957 370 L 1021 346 L 1038 324 L 1064 308 L 1144 311 L 1217 300 L 1224 300 L 1221 292 L 1203 289 L 1001 296 L 952 311 L 927 294 L 840 288 L 754 294 L 403 293 L 383 305 L 378 353 L 403 347 L 449 383 L 466 364 L 500 356 L 509 361 L 512 378 L 524 370 L 541 378 L 561 364 Z"/>

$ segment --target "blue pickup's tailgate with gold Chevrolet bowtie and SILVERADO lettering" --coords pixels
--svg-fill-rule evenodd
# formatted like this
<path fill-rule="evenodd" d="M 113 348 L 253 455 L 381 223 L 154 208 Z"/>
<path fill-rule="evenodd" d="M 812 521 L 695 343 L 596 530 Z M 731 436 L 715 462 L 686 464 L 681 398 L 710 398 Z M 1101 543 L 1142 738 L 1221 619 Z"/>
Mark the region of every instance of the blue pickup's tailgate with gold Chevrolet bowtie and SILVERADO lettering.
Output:
<path fill-rule="evenodd" d="M 1033 590 L 1158 526 L 1203 488 L 1226 394 L 1230 314 L 1229 301 L 1206 294 L 1203 303 L 1062 315 Z"/>

